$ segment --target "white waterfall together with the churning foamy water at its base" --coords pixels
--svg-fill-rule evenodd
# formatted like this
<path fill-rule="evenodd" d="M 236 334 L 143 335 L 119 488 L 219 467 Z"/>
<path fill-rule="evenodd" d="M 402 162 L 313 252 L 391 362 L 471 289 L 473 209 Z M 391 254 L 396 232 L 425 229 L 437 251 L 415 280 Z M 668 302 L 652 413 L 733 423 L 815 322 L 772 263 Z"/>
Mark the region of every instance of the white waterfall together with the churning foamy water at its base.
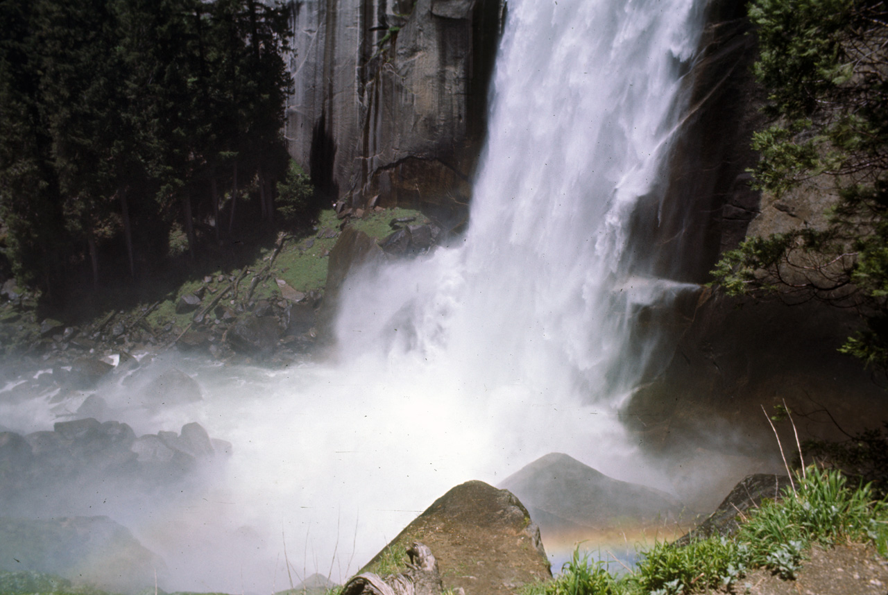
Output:
<path fill-rule="evenodd" d="M 91 513 L 162 553 L 168 589 L 269 592 L 289 588 L 284 542 L 297 573 L 340 579 L 449 488 L 496 485 L 549 452 L 657 484 L 616 409 L 650 350 L 630 345 L 631 313 L 683 288 L 635 266 L 650 247 L 627 227 L 642 197 L 661 198 L 701 5 L 510 0 L 459 245 L 353 278 L 335 364 L 157 364 L 185 369 L 205 400 L 121 421 L 198 421 L 234 443 L 225 477 L 194 502 L 97 494 Z M 52 424 L 26 417 L 13 429 Z"/>

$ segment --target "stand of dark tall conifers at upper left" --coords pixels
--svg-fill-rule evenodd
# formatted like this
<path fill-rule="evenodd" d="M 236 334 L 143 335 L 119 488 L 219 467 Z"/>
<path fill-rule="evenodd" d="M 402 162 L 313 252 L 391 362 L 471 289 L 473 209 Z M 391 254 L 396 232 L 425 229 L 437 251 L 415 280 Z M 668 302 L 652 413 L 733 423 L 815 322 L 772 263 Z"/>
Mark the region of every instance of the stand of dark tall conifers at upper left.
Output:
<path fill-rule="evenodd" d="M 248 212 L 274 217 L 286 6 L 8 0 L 0 30 L 0 218 L 21 282 L 99 282 L 108 253 L 136 277 L 172 231 L 194 253 Z"/>

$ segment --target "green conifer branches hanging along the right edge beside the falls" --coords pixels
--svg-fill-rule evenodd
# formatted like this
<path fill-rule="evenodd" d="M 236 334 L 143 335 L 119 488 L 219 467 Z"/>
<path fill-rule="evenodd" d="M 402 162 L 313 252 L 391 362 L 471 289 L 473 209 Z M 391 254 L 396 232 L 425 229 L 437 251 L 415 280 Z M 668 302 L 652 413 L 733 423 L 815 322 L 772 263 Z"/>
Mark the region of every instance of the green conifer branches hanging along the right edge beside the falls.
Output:
<path fill-rule="evenodd" d="M 826 224 L 749 237 L 712 272 L 730 294 L 776 293 L 855 309 L 842 351 L 888 368 L 888 5 L 754 0 L 772 125 L 752 139 L 754 186 L 832 196 Z"/>

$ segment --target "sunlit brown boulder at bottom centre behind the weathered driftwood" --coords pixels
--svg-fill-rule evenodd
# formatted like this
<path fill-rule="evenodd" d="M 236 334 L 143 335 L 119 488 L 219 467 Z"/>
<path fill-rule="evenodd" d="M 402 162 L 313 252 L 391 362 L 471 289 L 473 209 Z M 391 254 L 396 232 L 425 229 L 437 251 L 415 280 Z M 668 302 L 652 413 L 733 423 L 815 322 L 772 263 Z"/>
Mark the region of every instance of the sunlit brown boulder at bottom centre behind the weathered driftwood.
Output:
<path fill-rule="evenodd" d="M 539 529 L 511 492 L 483 481 L 448 491 L 385 546 L 361 572 L 375 571 L 386 556 L 406 562 L 413 543 L 437 559 L 444 590 L 465 595 L 506 595 L 520 585 L 551 578 Z"/>

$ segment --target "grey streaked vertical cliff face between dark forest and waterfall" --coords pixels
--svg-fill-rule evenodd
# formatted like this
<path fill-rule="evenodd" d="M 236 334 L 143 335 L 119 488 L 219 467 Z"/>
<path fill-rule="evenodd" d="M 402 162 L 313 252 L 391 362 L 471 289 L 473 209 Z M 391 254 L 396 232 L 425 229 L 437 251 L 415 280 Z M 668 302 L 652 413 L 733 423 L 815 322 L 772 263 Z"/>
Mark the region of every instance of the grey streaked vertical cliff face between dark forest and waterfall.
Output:
<path fill-rule="evenodd" d="M 297 0 L 289 152 L 331 200 L 465 218 L 500 0 Z"/>

